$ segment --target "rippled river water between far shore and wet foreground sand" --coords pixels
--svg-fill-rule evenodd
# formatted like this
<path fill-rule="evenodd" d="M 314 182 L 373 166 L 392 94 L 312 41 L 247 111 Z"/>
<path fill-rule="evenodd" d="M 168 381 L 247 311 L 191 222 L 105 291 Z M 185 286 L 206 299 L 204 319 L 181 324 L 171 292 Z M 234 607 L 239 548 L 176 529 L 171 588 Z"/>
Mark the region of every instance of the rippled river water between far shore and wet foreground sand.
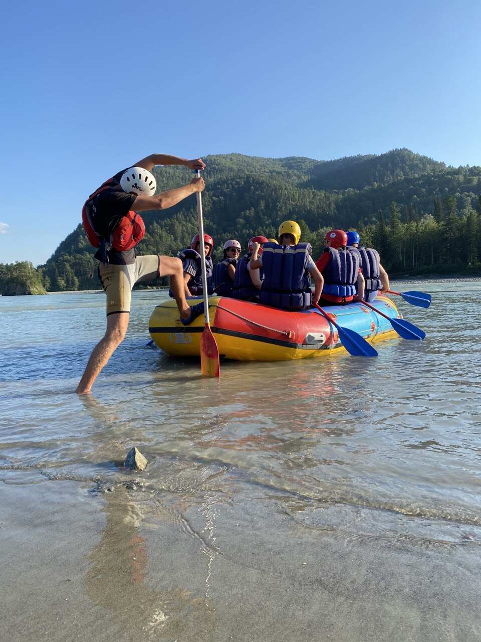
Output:
<path fill-rule="evenodd" d="M 72 391 L 104 331 L 103 293 L 2 297 L 1 468 L 103 487 L 122 483 L 135 445 L 149 488 L 199 505 L 215 478 L 216 501 L 252 494 L 308 526 L 330 508 L 323 524 L 339 528 L 354 506 L 383 509 L 373 532 L 477 537 L 481 282 L 398 287 L 433 294 L 428 310 L 396 297 L 423 343 L 377 343 L 375 360 L 230 361 L 220 381 L 146 347 L 164 293 L 135 292 L 128 338 L 83 397 Z"/>

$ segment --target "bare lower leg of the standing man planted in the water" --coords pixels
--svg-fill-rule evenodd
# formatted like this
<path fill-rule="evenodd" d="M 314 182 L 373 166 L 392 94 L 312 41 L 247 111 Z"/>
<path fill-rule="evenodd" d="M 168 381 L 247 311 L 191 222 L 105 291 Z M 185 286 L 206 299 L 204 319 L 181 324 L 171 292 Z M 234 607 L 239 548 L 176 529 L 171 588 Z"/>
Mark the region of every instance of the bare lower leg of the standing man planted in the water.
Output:
<path fill-rule="evenodd" d="M 187 303 L 186 303 L 187 305 Z M 129 324 L 128 312 L 117 312 L 107 317 L 107 329 L 103 338 L 97 343 L 96 347 L 90 354 L 85 372 L 80 379 L 76 392 L 85 394 L 90 392 L 92 384 L 96 380 L 99 372 L 106 365 L 115 348 L 117 348 L 125 338 Z"/>

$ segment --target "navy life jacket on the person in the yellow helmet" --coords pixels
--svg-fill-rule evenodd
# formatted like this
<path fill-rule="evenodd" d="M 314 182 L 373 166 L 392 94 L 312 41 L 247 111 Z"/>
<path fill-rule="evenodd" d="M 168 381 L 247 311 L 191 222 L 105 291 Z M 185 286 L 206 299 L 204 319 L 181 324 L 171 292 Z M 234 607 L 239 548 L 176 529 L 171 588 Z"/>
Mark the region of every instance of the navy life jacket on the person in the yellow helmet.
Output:
<path fill-rule="evenodd" d="M 260 302 L 274 308 L 308 308 L 312 304 L 310 275 L 307 272 L 311 252 L 309 243 L 264 243 L 264 282 L 260 290 Z"/>

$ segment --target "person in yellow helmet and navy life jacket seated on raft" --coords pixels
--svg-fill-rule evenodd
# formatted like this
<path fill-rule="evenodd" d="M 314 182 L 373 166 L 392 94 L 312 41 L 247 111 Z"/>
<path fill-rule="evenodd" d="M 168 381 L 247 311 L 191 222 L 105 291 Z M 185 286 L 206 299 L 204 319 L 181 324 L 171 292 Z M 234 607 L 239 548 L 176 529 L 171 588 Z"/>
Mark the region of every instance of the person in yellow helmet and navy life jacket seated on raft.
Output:
<path fill-rule="evenodd" d="M 309 243 L 300 243 L 301 228 L 295 221 L 279 226 L 279 243 L 264 243 L 262 256 L 259 244 L 253 244 L 251 270 L 264 269 L 260 303 L 285 310 L 301 310 L 317 303 L 323 289 L 323 277 L 317 270 Z M 312 295 L 310 277 L 314 279 Z"/>

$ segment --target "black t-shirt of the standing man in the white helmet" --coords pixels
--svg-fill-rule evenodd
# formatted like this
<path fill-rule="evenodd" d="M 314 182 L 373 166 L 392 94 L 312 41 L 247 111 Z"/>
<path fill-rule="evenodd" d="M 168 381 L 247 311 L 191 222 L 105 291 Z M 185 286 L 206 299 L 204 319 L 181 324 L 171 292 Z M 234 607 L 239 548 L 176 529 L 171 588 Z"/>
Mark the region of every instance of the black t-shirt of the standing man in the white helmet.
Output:
<path fill-rule="evenodd" d="M 127 168 L 128 169 L 128 168 Z M 103 189 L 101 193 L 94 196 L 87 203 L 89 214 L 97 234 L 103 238 L 109 238 L 112 230 L 119 223 L 122 216 L 125 216 L 130 210 L 137 196 L 127 194 L 120 186 L 120 180 L 125 169 L 119 171 L 111 179 L 112 186 Z M 96 259 L 102 261 L 101 250 L 97 250 Z M 107 257 L 109 263 L 113 265 L 130 265 L 135 263 L 135 248 L 126 252 L 118 250 L 108 250 Z"/>

